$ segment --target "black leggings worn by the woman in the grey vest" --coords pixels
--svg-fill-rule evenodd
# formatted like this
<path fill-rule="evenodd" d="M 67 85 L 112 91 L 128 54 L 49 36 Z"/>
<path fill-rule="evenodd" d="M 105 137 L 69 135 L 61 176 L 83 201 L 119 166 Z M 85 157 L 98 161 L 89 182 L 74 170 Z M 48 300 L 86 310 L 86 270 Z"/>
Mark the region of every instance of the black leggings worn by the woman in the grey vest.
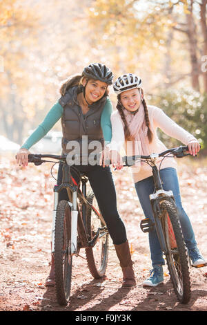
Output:
<path fill-rule="evenodd" d="M 84 173 L 90 182 L 92 191 L 95 194 L 99 209 L 106 222 L 108 232 L 115 245 L 124 243 L 126 238 L 126 228 L 117 211 L 117 195 L 115 185 L 112 179 L 110 167 L 95 166 L 75 166 L 81 173 Z M 71 172 L 72 176 L 77 179 L 76 174 Z M 57 185 L 62 181 L 62 165 L 59 165 Z M 66 189 L 59 193 L 59 201 L 68 201 Z"/>

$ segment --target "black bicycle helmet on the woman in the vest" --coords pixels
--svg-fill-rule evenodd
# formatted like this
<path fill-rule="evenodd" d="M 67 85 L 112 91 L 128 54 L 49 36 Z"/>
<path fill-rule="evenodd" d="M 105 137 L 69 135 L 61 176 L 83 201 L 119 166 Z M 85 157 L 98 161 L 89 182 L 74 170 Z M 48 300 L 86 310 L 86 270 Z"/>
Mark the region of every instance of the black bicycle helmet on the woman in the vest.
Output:
<path fill-rule="evenodd" d="M 89 66 L 83 69 L 83 75 L 95 80 L 100 80 L 101 82 L 106 82 L 106 84 L 112 84 L 112 71 L 102 63 L 89 64 Z"/>

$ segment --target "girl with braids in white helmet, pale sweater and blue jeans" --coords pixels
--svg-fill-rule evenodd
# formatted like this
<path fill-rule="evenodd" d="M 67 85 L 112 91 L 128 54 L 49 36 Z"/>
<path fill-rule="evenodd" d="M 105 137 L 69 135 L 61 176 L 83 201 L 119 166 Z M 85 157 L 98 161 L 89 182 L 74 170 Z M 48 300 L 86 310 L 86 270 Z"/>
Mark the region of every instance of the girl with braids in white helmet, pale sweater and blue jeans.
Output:
<path fill-rule="evenodd" d="M 117 93 L 118 102 L 117 111 L 111 115 L 112 141 L 108 145 L 110 149 L 110 160 L 113 165 L 117 165 L 119 168 L 121 167 L 119 151 L 122 145 L 128 148 L 127 156 L 135 154 L 148 156 L 153 152 L 159 153 L 165 151 L 165 145 L 157 137 L 157 127 L 168 134 L 168 136 L 180 140 L 184 145 L 188 145 L 191 155 L 195 156 L 197 154 L 199 151 L 199 142 L 190 133 L 168 118 L 161 109 L 146 105 L 144 91 L 141 89 L 141 79 L 139 77 L 131 73 L 121 75 L 114 84 L 114 91 Z M 161 159 L 157 161 L 157 165 L 161 163 Z M 174 158 L 163 160 L 160 174 L 164 183 L 164 189 L 166 191 L 172 190 L 175 196 L 181 228 L 193 266 L 202 265 L 206 261 L 197 248 L 190 219 L 181 205 Z M 144 214 L 153 221 L 149 199 L 149 195 L 154 192 L 151 168 L 147 164 L 132 167 L 132 178 Z M 149 244 L 152 270 L 150 270 L 150 277 L 144 281 L 144 286 L 157 286 L 164 281 L 162 268 L 164 259 L 155 230 L 149 232 Z"/>

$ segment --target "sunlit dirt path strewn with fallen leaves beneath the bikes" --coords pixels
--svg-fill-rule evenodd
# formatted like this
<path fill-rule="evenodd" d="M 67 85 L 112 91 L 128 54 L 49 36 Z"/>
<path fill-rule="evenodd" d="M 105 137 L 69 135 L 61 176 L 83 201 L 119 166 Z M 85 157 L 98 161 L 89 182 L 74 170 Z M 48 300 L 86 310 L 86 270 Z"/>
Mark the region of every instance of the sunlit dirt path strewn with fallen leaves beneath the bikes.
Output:
<path fill-rule="evenodd" d="M 187 160 L 186 160 L 187 161 Z M 185 163 L 186 163 L 185 161 Z M 118 207 L 126 223 L 137 287 L 121 289 L 121 269 L 110 243 L 106 277 L 94 280 L 86 261 L 74 258 L 70 304 L 61 307 L 55 289 L 44 286 L 49 272 L 52 187 L 50 165 L 27 169 L 7 158 L 0 160 L 0 310 L 35 311 L 197 311 L 207 310 L 207 268 L 190 270 L 192 298 L 179 304 L 165 268 L 165 281 L 143 288 L 151 268 L 148 235 L 141 232 L 143 218 L 127 170 L 114 173 Z M 207 167 L 179 165 L 183 205 L 190 216 L 199 249 L 207 258 Z M 82 252 L 84 254 L 84 252 Z"/>

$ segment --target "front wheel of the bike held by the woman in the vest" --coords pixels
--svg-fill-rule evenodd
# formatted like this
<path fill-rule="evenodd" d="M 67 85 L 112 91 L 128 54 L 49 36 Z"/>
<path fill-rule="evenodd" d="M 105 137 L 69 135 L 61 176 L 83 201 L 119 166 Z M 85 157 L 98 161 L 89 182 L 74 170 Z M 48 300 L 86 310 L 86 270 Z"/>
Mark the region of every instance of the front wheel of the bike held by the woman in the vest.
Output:
<path fill-rule="evenodd" d="M 57 301 L 67 305 L 70 299 L 72 255 L 71 255 L 71 210 L 67 201 L 57 205 L 55 221 L 55 288 Z"/>

